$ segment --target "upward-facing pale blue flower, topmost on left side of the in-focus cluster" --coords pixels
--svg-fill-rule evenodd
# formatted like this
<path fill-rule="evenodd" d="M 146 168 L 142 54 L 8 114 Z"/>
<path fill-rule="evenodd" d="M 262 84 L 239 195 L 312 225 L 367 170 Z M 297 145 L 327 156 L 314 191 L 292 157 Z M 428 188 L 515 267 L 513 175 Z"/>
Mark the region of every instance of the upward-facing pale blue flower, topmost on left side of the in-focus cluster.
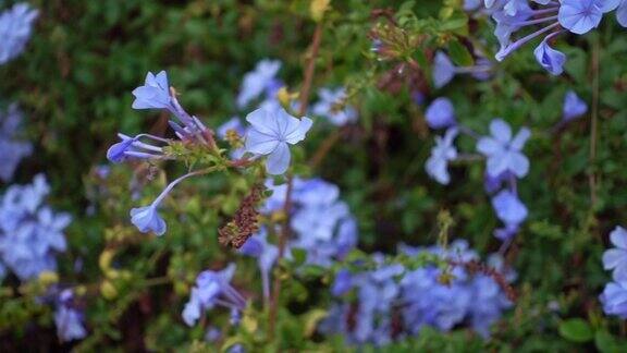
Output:
<path fill-rule="evenodd" d="M 144 86 L 135 88 L 133 96 L 135 96 L 133 109 L 172 109 L 170 85 L 165 71 L 161 71 L 157 75 L 151 72 L 146 74 Z"/>

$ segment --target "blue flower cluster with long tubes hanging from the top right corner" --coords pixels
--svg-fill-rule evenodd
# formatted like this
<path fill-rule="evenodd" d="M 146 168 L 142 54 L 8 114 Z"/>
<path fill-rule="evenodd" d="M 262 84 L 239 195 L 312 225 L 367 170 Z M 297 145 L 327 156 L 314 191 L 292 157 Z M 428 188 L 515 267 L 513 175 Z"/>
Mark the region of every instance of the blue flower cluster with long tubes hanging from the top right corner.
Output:
<path fill-rule="evenodd" d="M 485 0 L 496 23 L 494 35 L 501 44 L 495 58 L 504 60 L 537 37 L 544 36 L 533 51 L 538 63 L 553 75 L 564 71 L 566 56 L 553 49 L 553 38 L 570 32 L 582 35 L 599 26 L 603 14 L 616 11 L 618 23 L 627 26 L 627 2 L 623 0 Z M 541 27 L 518 39 L 513 35 L 525 27 Z"/>

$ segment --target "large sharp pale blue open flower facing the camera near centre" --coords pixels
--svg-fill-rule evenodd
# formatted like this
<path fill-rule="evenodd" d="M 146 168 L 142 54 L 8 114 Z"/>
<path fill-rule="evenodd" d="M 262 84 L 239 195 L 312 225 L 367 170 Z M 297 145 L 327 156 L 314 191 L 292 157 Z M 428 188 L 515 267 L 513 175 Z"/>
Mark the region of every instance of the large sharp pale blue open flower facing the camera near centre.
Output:
<path fill-rule="evenodd" d="M 290 167 L 290 148 L 305 139 L 314 122 L 309 118 L 296 119 L 284 109 L 272 111 L 257 109 L 246 117 L 251 125 L 246 136 L 246 151 L 255 155 L 268 155 L 268 173 L 283 174 Z"/>

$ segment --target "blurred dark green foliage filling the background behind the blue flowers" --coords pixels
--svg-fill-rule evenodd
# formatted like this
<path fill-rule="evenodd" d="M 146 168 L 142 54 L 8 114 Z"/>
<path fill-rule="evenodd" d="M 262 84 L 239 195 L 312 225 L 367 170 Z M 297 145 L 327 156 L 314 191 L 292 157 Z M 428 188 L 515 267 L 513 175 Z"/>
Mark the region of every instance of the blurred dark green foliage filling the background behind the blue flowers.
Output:
<path fill-rule="evenodd" d="M 246 113 L 237 111 L 234 97 L 244 73 L 260 59 L 282 60 L 280 76 L 296 90 L 316 26 L 309 1 L 32 3 L 40 10 L 35 35 L 24 56 L 0 66 L 0 97 L 20 102 L 36 143 L 35 157 L 22 165 L 16 180 L 27 182 L 45 171 L 52 183 L 53 204 L 75 216 L 69 232 L 72 246 L 59 257 L 61 278 L 88 283 L 87 291 L 96 288 L 101 294 L 89 303 L 94 334 L 76 348 L 194 350 L 198 342 L 192 342 L 201 340 L 204 332 L 182 324 L 181 299 L 201 269 L 219 268 L 233 258 L 218 245 L 217 229 L 221 212 L 236 207 L 241 196 L 236 183 L 208 178 L 181 187 L 176 202 L 168 205 L 167 218 L 175 226 L 167 236 L 147 239 L 127 220 L 127 210 L 138 204 L 131 200 L 128 181 L 140 180 L 137 175 L 146 173 L 145 168 L 114 167 L 106 181 L 97 168 L 106 163 L 104 153 L 118 132 L 165 130 L 161 113 L 131 109 L 131 90 L 148 71 L 167 70 L 183 105 L 211 126 Z M 602 316 L 598 294 L 608 280 L 600 260 L 607 233 L 627 216 L 627 66 L 623 60 L 627 37 L 613 21 L 604 21 L 595 33 L 560 45 L 569 58 L 562 76 L 542 72 L 528 47 L 500 63 L 491 81 L 457 77 L 435 90 L 426 80 L 430 65 L 421 65 L 420 74 L 410 69 L 403 72 L 405 59 L 429 62 L 434 49 L 452 48 L 452 41 L 462 45 L 459 60 L 467 48 L 482 48 L 492 57 L 496 47 L 493 25 L 459 9 L 455 0 L 332 1 L 316 60 L 314 87 L 347 86 L 360 120 L 339 132 L 337 143 L 310 172 L 341 186 L 342 197 L 359 220 L 360 247 L 366 252 L 393 252 L 399 242 L 434 243 L 437 216 L 444 209 L 455 220 L 451 238 L 467 239 L 483 254 L 500 245 L 492 235 L 497 220 L 482 191 L 480 163 L 455 165 L 450 186 L 427 176 L 423 161 L 433 134 L 423 120 L 425 106 L 413 100 L 414 90 L 428 101 L 450 97 L 458 120 L 480 133 L 487 133 L 495 117 L 514 130 L 522 125 L 532 130 L 526 148 L 531 171 L 519 184 L 530 219 L 507 255 L 518 272 L 515 308 L 489 342 L 466 331 L 425 330 L 418 339 L 389 351 L 414 352 L 415 346 L 443 352 L 620 351 L 625 325 Z M 426 35 L 428 40 L 405 48 L 404 58 L 377 60 L 370 47 L 373 28 L 386 22 L 380 13 L 395 16 L 406 34 Z M 445 25 L 453 29 L 441 31 Z M 599 98 L 595 137 L 591 138 L 590 114 L 563 131 L 552 130 L 562 117 L 566 89 L 575 89 L 588 102 Z M 316 126 L 306 142 L 307 156 L 320 151 L 333 134 Z M 463 138 L 460 146 L 474 150 L 474 141 Z M 163 185 L 158 173 L 140 195 L 150 197 Z M 103 265 L 102 256 L 109 255 L 112 263 Z M 81 272 L 73 270 L 77 259 L 84 264 Z M 241 263 L 245 275 L 237 280 L 256 280 L 254 260 Z M 170 278 L 172 283 L 161 285 L 159 278 Z M 297 322 L 298 302 L 321 300 L 307 297 L 318 295 L 311 289 L 319 280 L 294 281 L 285 289 L 294 302 L 286 318 Z M 32 350 L 56 346 L 54 332 L 46 329 L 50 316 L 29 305 L 3 294 L 3 350 L 15 349 L 11 339 Z M 285 324 L 286 338 L 295 337 L 291 330 L 298 327 Z M 318 350 L 342 350 L 341 340 L 315 341 Z M 314 349 L 306 345 L 312 343 L 294 342 L 285 344 Z"/>

